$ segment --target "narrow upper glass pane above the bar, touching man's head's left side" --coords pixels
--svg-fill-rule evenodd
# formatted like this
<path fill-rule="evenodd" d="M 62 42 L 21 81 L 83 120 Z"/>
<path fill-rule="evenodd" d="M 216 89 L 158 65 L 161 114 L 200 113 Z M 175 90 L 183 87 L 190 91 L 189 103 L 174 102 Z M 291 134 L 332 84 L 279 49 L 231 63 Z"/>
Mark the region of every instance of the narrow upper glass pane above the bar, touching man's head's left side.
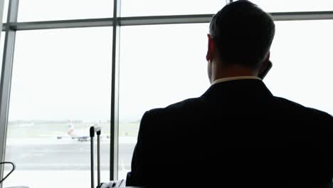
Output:
<path fill-rule="evenodd" d="M 122 0 L 122 16 L 216 14 L 225 0 Z"/>

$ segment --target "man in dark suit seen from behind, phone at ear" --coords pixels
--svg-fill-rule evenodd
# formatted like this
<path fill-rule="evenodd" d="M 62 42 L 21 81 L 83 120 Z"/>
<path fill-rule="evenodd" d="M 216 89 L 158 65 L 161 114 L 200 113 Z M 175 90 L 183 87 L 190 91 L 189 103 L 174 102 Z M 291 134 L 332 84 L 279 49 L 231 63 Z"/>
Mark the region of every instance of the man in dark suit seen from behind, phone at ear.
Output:
<path fill-rule="evenodd" d="M 332 182 L 333 117 L 273 96 L 258 78 L 274 34 L 270 15 L 249 1 L 213 16 L 211 87 L 143 115 L 127 186 Z"/>

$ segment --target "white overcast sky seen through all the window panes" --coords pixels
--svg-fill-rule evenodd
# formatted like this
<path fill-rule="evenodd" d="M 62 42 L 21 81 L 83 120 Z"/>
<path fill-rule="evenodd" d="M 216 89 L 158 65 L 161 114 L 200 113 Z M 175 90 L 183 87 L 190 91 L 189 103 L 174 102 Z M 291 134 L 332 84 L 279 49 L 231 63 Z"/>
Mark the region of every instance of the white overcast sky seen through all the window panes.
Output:
<path fill-rule="evenodd" d="M 20 1 L 18 20 L 111 17 L 110 1 L 95 2 Z M 213 14 L 225 1 L 156 2 L 123 1 L 122 16 Z M 333 9 L 330 0 L 255 2 L 268 11 Z M 268 88 L 333 114 L 333 21 L 281 21 L 276 27 Z M 208 23 L 121 28 L 120 120 L 139 120 L 146 110 L 198 97 L 209 87 L 206 33 Z M 107 27 L 18 31 L 10 120 L 110 119 L 111 42 L 112 28 Z"/>

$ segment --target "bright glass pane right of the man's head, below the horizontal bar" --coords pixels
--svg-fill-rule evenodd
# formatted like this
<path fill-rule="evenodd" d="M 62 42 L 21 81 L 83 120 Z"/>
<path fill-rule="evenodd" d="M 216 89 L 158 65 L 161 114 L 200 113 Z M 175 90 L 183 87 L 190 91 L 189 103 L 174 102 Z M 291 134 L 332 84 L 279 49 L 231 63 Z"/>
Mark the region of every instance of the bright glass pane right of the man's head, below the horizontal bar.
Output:
<path fill-rule="evenodd" d="M 265 83 L 277 96 L 333 115 L 333 21 L 275 24 L 273 68 Z"/>

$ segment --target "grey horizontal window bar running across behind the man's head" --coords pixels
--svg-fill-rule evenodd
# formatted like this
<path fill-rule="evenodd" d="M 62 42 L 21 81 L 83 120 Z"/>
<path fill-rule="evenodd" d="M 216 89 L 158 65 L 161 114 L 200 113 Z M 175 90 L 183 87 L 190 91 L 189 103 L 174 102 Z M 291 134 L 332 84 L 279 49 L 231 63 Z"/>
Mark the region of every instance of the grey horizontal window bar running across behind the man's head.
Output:
<path fill-rule="evenodd" d="M 325 20 L 333 19 L 333 11 L 312 11 L 312 12 L 274 12 L 271 13 L 275 21 L 302 21 L 302 20 Z M 180 23 L 209 23 L 213 14 L 195 14 L 195 15 L 171 15 L 171 16 L 137 16 L 120 17 L 116 23 L 119 26 L 140 26 L 157 24 L 180 24 Z M 51 28 L 85 28 L 85 27 L 103 27 L 112 26 L 113 19 L 77 19 L 63 21 L 31 21 L 4 23 L 2 31 L 6 27 L 11 30 L 37 30 Z"/>

